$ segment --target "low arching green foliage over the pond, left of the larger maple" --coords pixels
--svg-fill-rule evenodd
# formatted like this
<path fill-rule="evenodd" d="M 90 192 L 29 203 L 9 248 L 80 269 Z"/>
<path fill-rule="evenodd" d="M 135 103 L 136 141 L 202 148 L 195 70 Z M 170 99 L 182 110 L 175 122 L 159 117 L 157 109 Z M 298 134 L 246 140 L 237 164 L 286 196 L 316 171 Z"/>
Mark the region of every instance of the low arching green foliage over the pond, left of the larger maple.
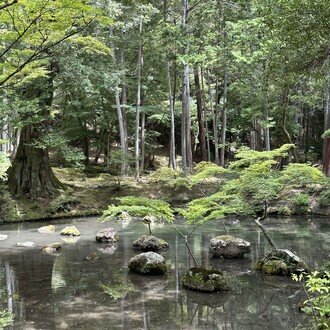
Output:
<path fill-rule="evenodd" d="M 168 222 L 174 220 L 173 210 L 168 203 L 159 199 L 135 196 L 120 198 L 118 205 L 108 206 L 108 209 L 103 212 L 102 218 L 112 220 L 118 218 L 123 212 L 137 218 L 151 216 Z"/>

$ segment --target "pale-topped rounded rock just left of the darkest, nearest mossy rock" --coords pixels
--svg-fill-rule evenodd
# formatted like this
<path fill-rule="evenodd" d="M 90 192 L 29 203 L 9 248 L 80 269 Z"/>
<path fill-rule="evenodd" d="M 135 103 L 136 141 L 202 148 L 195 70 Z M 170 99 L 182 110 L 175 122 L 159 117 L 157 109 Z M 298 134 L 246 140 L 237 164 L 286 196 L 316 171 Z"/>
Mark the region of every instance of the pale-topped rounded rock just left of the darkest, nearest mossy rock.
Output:
<path fill-rule="evenodd" d="M 128 268 L 142 275 L 162 275 L 167 272 L 165 259 L 156 252 L 138 254 L 129 261 Z"/>

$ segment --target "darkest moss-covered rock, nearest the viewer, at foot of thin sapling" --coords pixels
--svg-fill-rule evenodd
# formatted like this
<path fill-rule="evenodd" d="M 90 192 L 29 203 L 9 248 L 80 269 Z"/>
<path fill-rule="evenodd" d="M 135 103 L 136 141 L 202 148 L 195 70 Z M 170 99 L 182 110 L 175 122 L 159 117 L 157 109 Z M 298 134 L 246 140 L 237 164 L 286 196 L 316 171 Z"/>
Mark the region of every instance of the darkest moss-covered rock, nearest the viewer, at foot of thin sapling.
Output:
<path fill-rule="evenodd" d="M 182 277 L 185 288 L 202 292 L 225 291 L 229 288 L 226 274 L 217 269 L 190 268 Z"/>

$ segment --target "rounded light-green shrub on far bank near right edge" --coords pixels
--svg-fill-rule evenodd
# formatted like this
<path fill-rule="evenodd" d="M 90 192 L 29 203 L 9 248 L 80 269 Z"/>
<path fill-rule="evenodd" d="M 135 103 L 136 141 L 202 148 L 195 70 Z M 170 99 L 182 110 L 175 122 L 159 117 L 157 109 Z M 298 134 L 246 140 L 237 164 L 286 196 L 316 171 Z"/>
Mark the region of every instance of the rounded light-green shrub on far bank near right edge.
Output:
<path fill-rule="evenodd" d="M 280 182 L 284 185 L 305 187 L 310 184 L 322 184 L 325 175 L 317 168 L 307 164 L 289 164 L 281 173 Z"/>

